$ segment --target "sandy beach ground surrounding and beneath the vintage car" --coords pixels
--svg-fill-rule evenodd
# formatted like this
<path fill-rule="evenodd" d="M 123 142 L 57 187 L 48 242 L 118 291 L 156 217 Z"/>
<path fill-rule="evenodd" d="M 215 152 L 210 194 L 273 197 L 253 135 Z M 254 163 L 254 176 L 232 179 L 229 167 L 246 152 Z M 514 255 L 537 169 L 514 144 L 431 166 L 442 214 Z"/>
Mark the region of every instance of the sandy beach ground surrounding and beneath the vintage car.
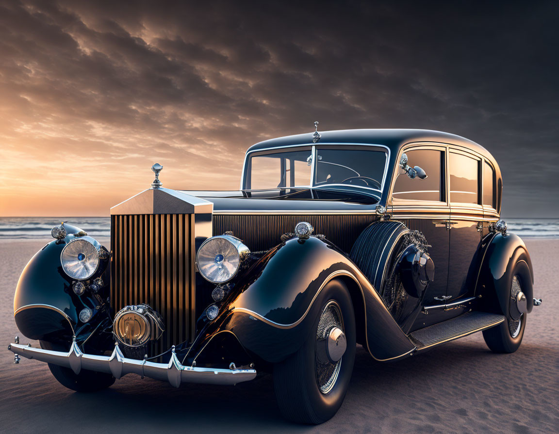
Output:
<path fill-rule="evenodd" d="M 179 389 L 129 375 L 103 392 L 80 394 L 58 384 L 44 363 L 22 358 L 13 364 L 6 347 L 21 335 L 13 321 L 13 292 L 45 241 L 0 243 L 2 432 L 559 431 L 559 240 L 526 240 L 534 295 L 543 304 L 528 316 L 517 353 L 492 354 L 481 333 L 391 364 L 377 363 L 359 347 L 342 408 L 318 427 L 281 418 L 269 375 L 234 387 Z"/>

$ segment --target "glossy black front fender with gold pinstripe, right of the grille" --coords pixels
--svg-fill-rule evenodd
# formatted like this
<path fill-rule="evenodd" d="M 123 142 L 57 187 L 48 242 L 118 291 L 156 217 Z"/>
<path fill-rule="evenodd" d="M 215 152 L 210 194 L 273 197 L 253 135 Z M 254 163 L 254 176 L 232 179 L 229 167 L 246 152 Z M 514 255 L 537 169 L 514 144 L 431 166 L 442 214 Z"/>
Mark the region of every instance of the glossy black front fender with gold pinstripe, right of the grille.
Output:
<path fill-rule="evenodd" d="M 321 306 L 315 303 L 331 279 L 349 279 L 356 317 L 364 317 L 369 353 L 390 360 L 415 349 L 375 288 L 334 245 L 311 237 L 292 238 L 260 259 L 241 282 L 225 327 L 260 358 L 276 363 L 301 347 Z"/>

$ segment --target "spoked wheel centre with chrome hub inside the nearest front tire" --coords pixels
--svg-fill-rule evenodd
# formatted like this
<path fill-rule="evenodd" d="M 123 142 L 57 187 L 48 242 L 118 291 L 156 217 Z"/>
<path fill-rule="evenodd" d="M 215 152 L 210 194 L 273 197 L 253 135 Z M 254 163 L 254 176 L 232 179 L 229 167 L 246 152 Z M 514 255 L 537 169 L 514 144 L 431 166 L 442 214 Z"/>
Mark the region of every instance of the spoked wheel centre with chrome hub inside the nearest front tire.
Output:
<path fill-rule="evenodd" d="M 316 330 L 315 369 L 320 392 L 328 393 L 334 387 L 346 348 L 342 311 L 337 302 L 329 301 Z"/>

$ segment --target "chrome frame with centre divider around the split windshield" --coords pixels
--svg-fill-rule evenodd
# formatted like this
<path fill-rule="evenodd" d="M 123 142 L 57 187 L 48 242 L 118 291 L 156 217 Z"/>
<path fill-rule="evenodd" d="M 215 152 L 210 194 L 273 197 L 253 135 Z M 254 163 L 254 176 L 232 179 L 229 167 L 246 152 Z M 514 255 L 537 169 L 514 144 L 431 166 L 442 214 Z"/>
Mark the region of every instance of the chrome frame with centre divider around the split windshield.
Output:
<path fill-rule="evenodd" d="M 372 148 L 378 148 L 378 150 L 384 151 L 386 153 L 386 162 L 385 162 L 384 172 L 382 173 L 381 189 L 378 190 L 378 189 L 373 189 L 372 187 L 361 186 L 361 185 L 350 185 L 350 184 L 316 185 L 316 180 L 315 180 L 316 163 L 317 163 L 317 161 L 316 161 L 316 147 L 323 147 L 323 146 L 332 147 L 334 149 L 338 148 L 340 150 L 343 150 L 345 147 L 368 146 L 368 147 L 372 147 Z M 309 148 L 309 147 L 311 147 L 311 156 L 312 156 L 311 177 L 310 177 L 310 180 L 309 180 L 309 185 L 296 186 L 296 187 L 276 187 L 274 189 L 264 189 L 264 190 L 245 188 L 246 183 L 247 183 L 247 170 L 248 170 L 249 158 L 252 157 L 253 153 L 264 153 L 264 154 L 266 154 L 266 153 L 274 153 L 273 151 L 284 150 L 284 149 L 287 149 L 287 148 L 295 148 L 293 150 L 296 150 L 296 148 Z M 268 151 L 272 151 L 272 152 L 268 152 Z M 281 151 L 279 151 L 279 152 L 281 152 Z M 388 146 L 383 145 L 383 144 L 324 142 L 324 143 L 288 144 L 288 145 L 285 145 L 285 146 L 275 146 L 275 147 L 270 147 L 270 148 L 263 148 L 263 149 L 248 151 L 245 154 L 244 163 L 243 163 L 243 173 L 241 174 L 240 190 L 241 191 L 265 191 L 265 190 L 288 190 L 288 189 L 296 189 L 296 188 L 332 189 L 332 187 L 343 187 L 345 189 L 345 188 L 349 187 L 350 189 L 359 189 L 359 190 L 368 190 L 370 192 L 378 192 L 378 197 L 380 199 L 380 196 L 382 195 L 382 192 L 384 191 L 385 186 L 386 186 L 387 172 L 388 172 L 389 163 L 390 163 L 390 148 Z"/>

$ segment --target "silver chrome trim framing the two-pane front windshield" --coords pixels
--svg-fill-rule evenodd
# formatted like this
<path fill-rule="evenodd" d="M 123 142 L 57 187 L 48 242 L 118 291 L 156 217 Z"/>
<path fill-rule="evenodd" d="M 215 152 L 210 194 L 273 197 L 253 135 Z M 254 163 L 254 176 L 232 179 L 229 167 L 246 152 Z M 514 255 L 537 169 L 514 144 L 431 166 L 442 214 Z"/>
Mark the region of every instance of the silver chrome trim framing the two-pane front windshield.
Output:
<path fill-rule="evenodd" d="M 315 185 L 315 171 L 316 171 L 316 147 L 317 146 L 338 146 L 340 147 L 340 149 L 343 149 L 345 146 L 370 146 L 370 147 L 375 147 L 375 148 L 381 148 L 382 150 L 384 150 L 386 152 L 386 161 L 385 161 L 385 168 L 384 168 L 384 172 L 382 174 L 382 183 L 381 183 L 381 189 L 373 189 L 372 187 L 365 187 L 365 186 L 361 186 L 361 185 L 349 185 L 349 184 L 328 184 L 328 185 Z M 311 147 L 311 155 L 312 155 L 312 166 L 311 166 L 311 179 L 309 180 L 310 183 L 308 186 L 294 186 L 294 187 L 290 187 L 290 188 L 297 188 L 297 187 L 303 187 L 303 188 L 309 188 L 309 189 L 328 189 L 328 187 L 334 187 L 334 186 L 343 186 L 343 187 L 350 187 L 350 188 L 354 188 L 354 189 L 363 189 L 363 190 L 371 190 L 371 191 L 375 191 L 378 192 L 378 199 L 380 200 L 381 196 L 382 196 L 382 192 L 385 189 L 385 185 L 386 185 L 386 179 L 387 179 L 387 175 L 388 175 L 388 167 L 390 165 L 390 148 L 388 146 L 385 146 L 383 144 L 374 144 L 374 143 L 339 143 L 339 142 L 324 142 L 324 143 L 300 143 L 300 144 L 287 144 L 284 146 L 274 146 L 274 147 L 270 147 L 270 148 L 263 148 L 263 149 L 258 149 L 258 150 L 253 150 L 253 151 L 247 151 L 247 153 L 245 153 L 245 158 L 243 161 L 243 172 L 241 173 L 241 182 L 240 182 L 240 190 L 241 191 L 257 191 L 257 190 L 251 190 L 251 189 L 245 189 L 244 188 L 244 184 L 245 184 L 245 173 L 247 170 L 247 165 L 248 165 L 248 158 L 249 155 L 254 153 L 254 152 L 266 152 L 266 151 L 273 151 L 276 149 L 284 149 L 284 148 L 304 148 L 304 147 Z"/>

